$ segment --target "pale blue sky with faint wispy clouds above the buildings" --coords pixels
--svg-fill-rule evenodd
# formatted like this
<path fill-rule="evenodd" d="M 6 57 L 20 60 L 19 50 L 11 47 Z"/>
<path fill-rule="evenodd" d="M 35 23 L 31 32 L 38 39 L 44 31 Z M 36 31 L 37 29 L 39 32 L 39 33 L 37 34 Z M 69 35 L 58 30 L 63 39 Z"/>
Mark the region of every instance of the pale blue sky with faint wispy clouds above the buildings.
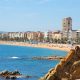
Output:
<path fill-rule="evenodd" d="M 54 31 L 72 18 L 80 29 L 80 0 L 0 0 L 0 31 Z"/>

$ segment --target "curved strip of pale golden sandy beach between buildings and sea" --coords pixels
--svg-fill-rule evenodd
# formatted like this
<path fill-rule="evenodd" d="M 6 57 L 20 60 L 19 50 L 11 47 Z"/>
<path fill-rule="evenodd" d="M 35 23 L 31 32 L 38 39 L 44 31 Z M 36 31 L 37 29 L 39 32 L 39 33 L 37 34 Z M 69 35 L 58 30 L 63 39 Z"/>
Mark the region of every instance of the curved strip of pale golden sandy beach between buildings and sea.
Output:
<path fill-rule="evenodd" d="M 53 50 L 62 50 L 62 51 L 70 51 L 71 48 L 75 46 L 70 46 L 69 44 L 48 44 L 48 43 L 38 43 L 38 44 L 30 44 L 27 42 L 13 42 L 13 41 L 0 41 L 0 44 L 4 45 L 13 45 L 13 46 L 25 46 L 25 47 L 35 47 L 35 48 L 47 48 Z"/>

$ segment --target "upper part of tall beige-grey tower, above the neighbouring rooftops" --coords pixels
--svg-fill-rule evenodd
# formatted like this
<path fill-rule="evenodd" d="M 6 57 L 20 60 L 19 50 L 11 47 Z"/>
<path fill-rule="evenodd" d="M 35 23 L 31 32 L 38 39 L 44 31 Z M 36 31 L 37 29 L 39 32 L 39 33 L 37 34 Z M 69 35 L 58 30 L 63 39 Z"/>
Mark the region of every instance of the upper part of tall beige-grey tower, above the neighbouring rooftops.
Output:
<path fill-rule="evenodd" d="M 72 18 L 71 17 L 67 17 L 64 18 L 62 21 L 62 31 L 69 31 L 72 30 Z"/>

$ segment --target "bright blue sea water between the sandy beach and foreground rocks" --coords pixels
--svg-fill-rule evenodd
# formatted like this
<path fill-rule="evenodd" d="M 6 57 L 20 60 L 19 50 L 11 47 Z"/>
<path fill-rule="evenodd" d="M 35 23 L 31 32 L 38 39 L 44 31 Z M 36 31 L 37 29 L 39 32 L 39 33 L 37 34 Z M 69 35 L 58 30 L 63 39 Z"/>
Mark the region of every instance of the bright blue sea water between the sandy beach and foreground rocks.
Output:
<path fill-rule="evenodd" d="M 19 70 L 23 75 L 32 76 L 28 79 L 38 80 L 44 76 L 50 68 L 53 68 L 58 60 L 33 60 L 35 56 L 65 56 L 67 52 L 43 48 L 0 45 L 0 71 Z M 3 79 L 0 79 L 3 80 Z"/>

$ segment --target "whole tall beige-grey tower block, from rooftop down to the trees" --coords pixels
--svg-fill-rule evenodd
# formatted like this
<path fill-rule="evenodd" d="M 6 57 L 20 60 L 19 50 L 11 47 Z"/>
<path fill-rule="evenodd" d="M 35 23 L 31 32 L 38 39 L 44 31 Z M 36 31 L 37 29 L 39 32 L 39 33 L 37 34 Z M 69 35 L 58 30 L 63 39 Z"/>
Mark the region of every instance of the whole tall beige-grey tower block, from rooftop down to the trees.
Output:
<path fill-rule="evenodd" d="M 67 40 L 71 43 L 71 39 L 72 39 L 72 18 L 71 17 L 67 17 L 63 19 L 62 31 L 63 31 L 63 37 L 67 38 Z"/>

